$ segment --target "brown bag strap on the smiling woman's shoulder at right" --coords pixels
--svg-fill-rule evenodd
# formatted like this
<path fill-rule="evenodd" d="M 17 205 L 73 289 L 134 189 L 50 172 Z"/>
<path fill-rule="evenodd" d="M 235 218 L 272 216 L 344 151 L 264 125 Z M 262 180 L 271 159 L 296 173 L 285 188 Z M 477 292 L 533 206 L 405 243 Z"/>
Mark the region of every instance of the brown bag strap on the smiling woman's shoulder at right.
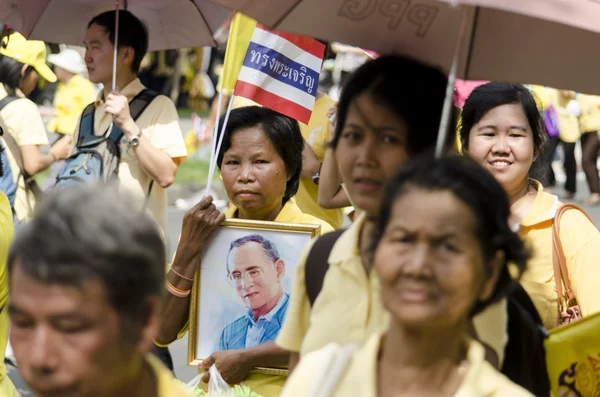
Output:
<path fill-rule="evenodd" d="M 575 204 L 563 204 L 556 210 L 556 215 L 554 215 L 554 221 L 552 222 L 552 264 L 554 266 L 554 282 L 556 283 L 556 294 L 558 295 L 560 313 L 568 309 L 571 303 L 576 302 L 575 294 L 571 290 L 567 258 L 560 240 L 560 219 L 565 212 L 571 209 L 581 212 L 590 222 L 594 223 L 587 212 Z M 566 302 L 564 302 L 565 299 Z M 565 303 L 567 307 L 563 307 Z"/>

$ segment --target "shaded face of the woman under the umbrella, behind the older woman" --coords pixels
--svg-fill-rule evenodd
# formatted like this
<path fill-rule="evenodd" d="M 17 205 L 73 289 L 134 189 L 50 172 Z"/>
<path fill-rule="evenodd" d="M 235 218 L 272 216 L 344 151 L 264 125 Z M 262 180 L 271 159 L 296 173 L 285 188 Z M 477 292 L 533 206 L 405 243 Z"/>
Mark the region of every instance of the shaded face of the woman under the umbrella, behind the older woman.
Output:
<path fill-rule="evenodd" d="M 379 212 L 385 183 L 408 160 L 407 135 L 404 120 L 369 94 L 350 103 L 335 156 L 352 202 L 367 215 Z"/>

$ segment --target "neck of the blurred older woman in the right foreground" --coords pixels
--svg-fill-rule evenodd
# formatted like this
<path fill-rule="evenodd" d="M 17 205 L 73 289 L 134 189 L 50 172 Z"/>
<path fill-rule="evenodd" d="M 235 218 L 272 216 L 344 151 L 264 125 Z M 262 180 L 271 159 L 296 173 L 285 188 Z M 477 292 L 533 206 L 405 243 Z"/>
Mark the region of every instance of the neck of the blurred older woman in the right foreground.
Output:
<path fill-rule="evenodd" d="M 466 358 L 466 327 L 423 332 L 392 323 L 385 335 L 378 363 L 378 394 L 404 390 L 423 395 L 453 395 L 462 378 L 457 375 Z"/>

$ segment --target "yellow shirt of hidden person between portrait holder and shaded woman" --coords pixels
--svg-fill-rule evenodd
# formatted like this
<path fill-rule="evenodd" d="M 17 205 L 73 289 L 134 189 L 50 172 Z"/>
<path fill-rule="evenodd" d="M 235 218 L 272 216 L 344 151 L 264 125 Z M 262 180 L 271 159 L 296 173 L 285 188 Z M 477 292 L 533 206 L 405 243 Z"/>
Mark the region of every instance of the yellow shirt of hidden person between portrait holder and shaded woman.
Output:
<path fill-rule="evenodd" d="M 312 148 L 320 163 L 323 162 L 325 149 L 331 139 L 327 112 L 334 105 L 333 99 L 323 95 L 315 101 L 308 125 L 300 123 L 302 137 Z M 334 228 L 339 229 L 344 225 L 344 212 L 341 208 L 327 210 L 319 205 L 319 186 L 315 185 L 311 178 L 300 178 L 300 186 L 295 200 L 303 212 L 327 221 Z"/>

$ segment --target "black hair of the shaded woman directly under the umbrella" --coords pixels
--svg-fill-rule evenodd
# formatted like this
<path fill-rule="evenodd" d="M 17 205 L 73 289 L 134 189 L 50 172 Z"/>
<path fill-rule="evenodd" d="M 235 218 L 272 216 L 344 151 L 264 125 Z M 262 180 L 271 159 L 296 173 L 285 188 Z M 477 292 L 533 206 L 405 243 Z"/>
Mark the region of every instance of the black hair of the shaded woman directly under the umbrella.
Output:
<path fill-rule="evenodd" d="M 438 136 L 447 85 L 448 79 L 442 71 L 411 58 L 385 55 L 367 61 L 349 77 L 342 90 L 331 146 L 336 148 L 339 143 L 352 102 L 362 94 L 369 94 L 374 102 L 406 121 L 409 154 L 432 150 Z M 447 144 L 450 142 L 448 139 Z"/>

